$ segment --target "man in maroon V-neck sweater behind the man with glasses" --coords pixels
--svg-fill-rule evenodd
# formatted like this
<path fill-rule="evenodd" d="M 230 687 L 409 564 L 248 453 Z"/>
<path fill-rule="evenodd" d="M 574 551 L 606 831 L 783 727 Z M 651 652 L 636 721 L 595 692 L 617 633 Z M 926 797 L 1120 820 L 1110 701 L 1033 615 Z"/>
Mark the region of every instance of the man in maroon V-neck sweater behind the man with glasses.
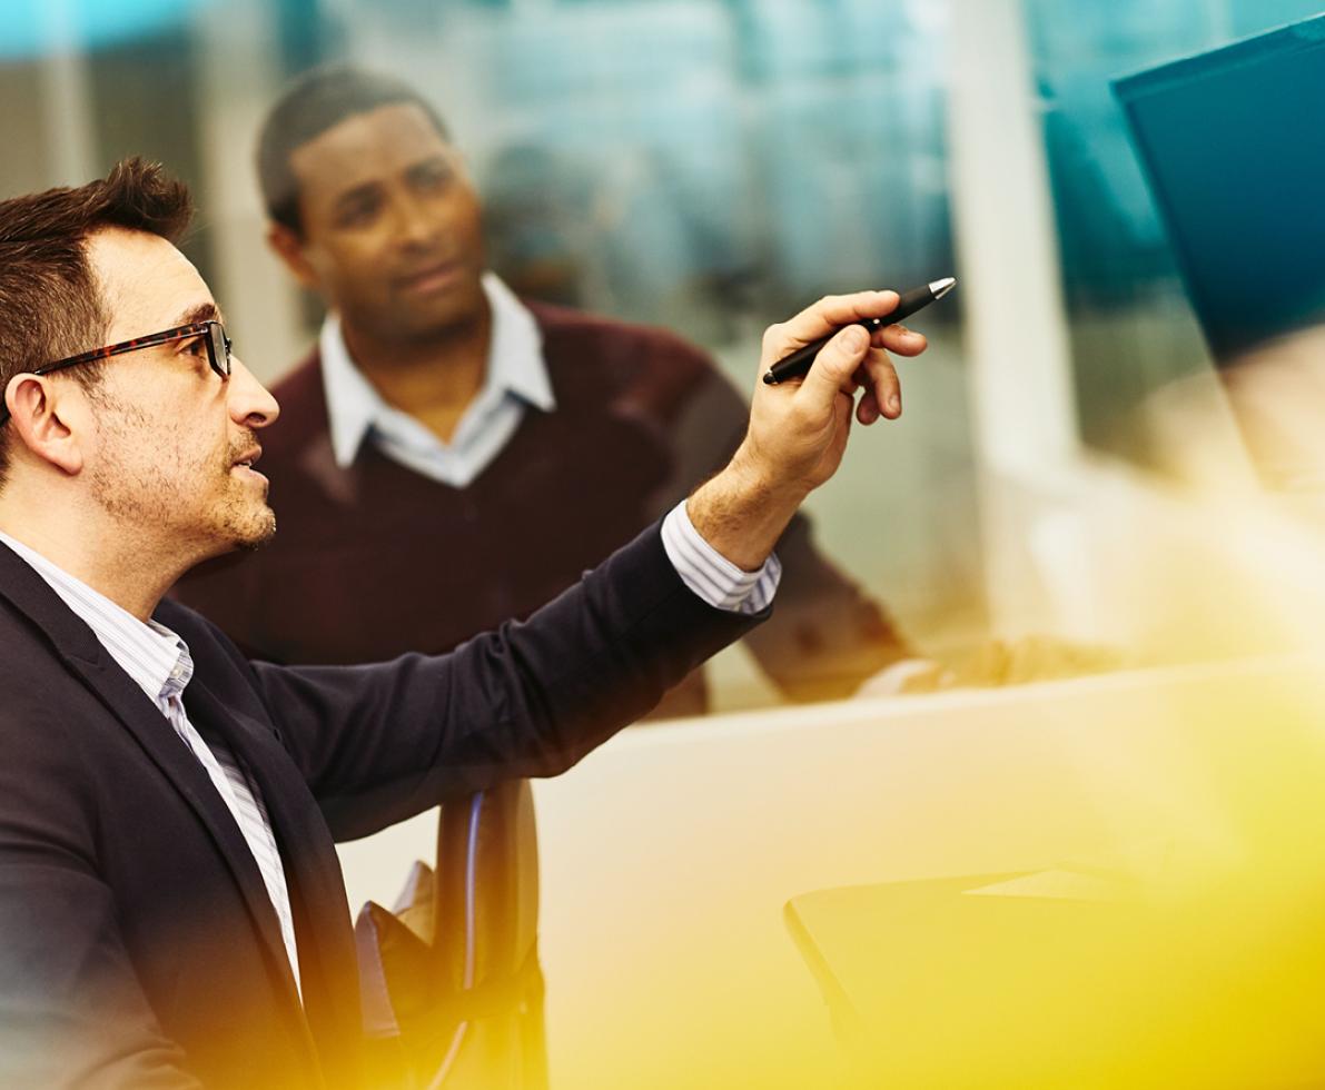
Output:
<path fill-rule="evenodd" d="M 245 649 L 448 650 L 568 587 L 741 441 L 746 407 L 698 350 L 522 302 L 488 272 L 465 164 L 408 85 L 303 77 L 266 118 L 258 176 L 272 246 L 331 313 L 276 388 L 281 538 L 179 591 Z M 905 654 L 802 517 L 778 555 L 778 613 L 746 642 L 786 695 L 847 697 Z M 697 671 L 659 714 L 705 706 Z"/>

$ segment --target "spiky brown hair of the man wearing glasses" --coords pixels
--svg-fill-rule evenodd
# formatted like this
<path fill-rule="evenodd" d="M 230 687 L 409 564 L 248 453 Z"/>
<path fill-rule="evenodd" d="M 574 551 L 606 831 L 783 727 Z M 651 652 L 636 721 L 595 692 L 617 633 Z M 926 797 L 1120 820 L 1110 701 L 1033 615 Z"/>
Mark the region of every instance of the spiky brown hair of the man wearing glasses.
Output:
<path fill-rule="evenodd" d="M 121 226 L 175 242 L 192 216 L 188 187 L 138 158 L 86 185 L 0 201 L 0 396 L 15 375 L 105 340 L 110 313 L 87 261 L 89 236 Z M 99 368 L 69 373 L 91 388 Z M 8 433 L 0 429 L 0 483 Z"/>

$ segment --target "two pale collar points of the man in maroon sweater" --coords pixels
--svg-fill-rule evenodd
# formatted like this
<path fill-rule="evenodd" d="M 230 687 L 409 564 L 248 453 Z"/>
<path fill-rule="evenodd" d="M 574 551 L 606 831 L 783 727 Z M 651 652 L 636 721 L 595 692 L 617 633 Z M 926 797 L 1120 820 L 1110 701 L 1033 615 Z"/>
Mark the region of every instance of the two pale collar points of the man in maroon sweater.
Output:
<path fill-rule="evenodd" d="M 484 273 L 482 287 L 492 307 L 492 335 L 488 344 L 488 371 L 476 403 L 490 393 L 507 392 L 543 412 L 551 412 L 556 408 L 556 400 L 543 359 L 543 338 L 538 322 L 494 273 Z M 322 356 L 331 450 L 337 465 L 346 469 L 352 465 L 374 425 L 398 411 L 383 400 L 350 358 L 339 315 L 329 314 L 322 323 L 318 350 Z"/>

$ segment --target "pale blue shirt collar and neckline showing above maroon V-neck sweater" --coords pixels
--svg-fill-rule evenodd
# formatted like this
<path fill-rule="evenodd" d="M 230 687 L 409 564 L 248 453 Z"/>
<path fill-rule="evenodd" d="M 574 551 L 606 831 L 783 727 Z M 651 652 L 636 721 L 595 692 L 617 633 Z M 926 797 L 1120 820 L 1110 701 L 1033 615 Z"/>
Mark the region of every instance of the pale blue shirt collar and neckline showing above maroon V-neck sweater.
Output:
<path fill-rule="evenodd" d="M 341 469 L 354 464 L 364 442 L 372 442 L 407 469 L 464 489 L 502 452 L 530 407 L 556 408 L 534 315 L 493 273 L 484 274 L 482 286 L 493 317 L 488 373 L 450 442 L 387 404 L 350 358 L 339 318 L 327 315 L 318 348 L 331 450 Z"/>

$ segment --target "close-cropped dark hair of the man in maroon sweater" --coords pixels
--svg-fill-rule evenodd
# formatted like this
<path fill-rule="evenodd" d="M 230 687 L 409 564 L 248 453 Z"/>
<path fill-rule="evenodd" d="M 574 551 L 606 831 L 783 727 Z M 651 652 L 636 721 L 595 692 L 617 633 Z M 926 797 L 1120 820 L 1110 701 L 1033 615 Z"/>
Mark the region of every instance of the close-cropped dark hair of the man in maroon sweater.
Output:
<path fill-rule="evenodd" d="M 394 75 L 363 72 L 350 65 L 326 65 L 295 78 L 268 111 L 257 138 L 257 184 L 266 215 L 302 234 L 299 185 L 290 168 L 295 148 L 346 118 L 399 102 L 419 106 L 441 138 L 450 139 L 447 123 L 433 105 Z"/>

